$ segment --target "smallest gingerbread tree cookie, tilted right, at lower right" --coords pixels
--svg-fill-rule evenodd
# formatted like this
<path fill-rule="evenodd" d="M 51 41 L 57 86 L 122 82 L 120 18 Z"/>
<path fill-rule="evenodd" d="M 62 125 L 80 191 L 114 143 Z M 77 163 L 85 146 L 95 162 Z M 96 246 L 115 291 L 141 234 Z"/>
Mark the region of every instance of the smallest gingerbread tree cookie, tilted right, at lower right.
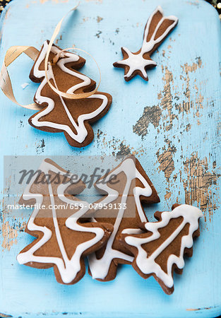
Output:
<path fill-rule="evenodd" d="M 145 233 L 121 235 L 134 255 L 133 268 L 143 278 L 153 276 L 167 294 L 174 291 L 173 272 L 182 273 L 184 255 L 193 254 L 193 237 L 200 235 L 203 213 L 193 206 L 174 204 L 171 212 L 155 213 L 158 222 L 143 224 Z"/>

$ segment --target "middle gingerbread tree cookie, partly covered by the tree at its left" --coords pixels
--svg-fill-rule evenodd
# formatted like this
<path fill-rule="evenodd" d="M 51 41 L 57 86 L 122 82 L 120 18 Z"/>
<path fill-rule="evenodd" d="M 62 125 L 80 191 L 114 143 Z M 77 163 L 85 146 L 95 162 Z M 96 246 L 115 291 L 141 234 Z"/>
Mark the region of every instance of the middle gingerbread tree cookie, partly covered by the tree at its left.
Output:
<path fill-rule="evenodd" d="M 114 179 L 113 175 L 116 176 Z M 121 232 L 141 233 L 140 223 L 147 222 L 141 202 L 153 204 L 160 199 L 143 167 L 132 157 L 126 158 L 105 175 L 105 183 L 100 183 L 103 178 L 95 187 L 106 196 L 95 202 L 94 220 L 112 224 L 114 231 L 107 244 L 88 257 L 89 273 L 98 281 L 111 281 L 117 275 L 118 264 L 131 264 L 133 261 L 129 249 L 119 242 Z M 100 208 L 100 204 L 104 207 Z"/>

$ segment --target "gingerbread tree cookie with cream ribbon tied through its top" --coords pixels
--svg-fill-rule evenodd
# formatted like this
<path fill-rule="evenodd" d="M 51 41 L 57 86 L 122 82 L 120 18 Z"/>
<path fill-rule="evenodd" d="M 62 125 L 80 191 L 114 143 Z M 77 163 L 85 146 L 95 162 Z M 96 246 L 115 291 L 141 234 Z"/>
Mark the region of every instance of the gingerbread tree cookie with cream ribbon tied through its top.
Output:
<path fill-rule="evenodd" d="M 71 100 L 54 93 L 45 78 L 44 59 L 48 41 L 44 42 L 39 56 L 30 72 L 30 79 L 40 83 L 34 101 L 42 105 L 42 110 L 29 119 L 31 126 L 49 132 L 63 132 L 73 147 L 84 147 L 92 142 L 94 133 L 92 122 L 107 113 L 112 96 L 97 92 L 88 98 Z M 49 61 L 61 51 L 52 46 Z M 76 71 L 85 64 L 85 59 L 70 52 L 61 53 L 56 64 L 49 64 L 48 78 L 57 89 L 66 93 L 87 93 L 95 89 L 95 81 Z"/>

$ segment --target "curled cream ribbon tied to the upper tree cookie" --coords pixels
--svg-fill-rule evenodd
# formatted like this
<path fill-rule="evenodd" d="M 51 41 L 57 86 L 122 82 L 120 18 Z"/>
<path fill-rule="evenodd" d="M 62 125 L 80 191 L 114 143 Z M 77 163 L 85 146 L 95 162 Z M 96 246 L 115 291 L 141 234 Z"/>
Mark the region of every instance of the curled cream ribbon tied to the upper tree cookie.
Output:
<path fill-rule="evenodd" d="M 71 11 L 75 11 L 76 8 L 78 8 L 78 5 L 80 4 L 80 2 L 74 7 L 72 8 L 70 11 L 68 11 L 68 13 L 70 13 Z M 54 90 L 54 92 L 64 98 L 69 98 L 72 100 L 76 100 L 76 99 L 81 99 L 81 98 L 88 98 L 89 96 L 95 94 L 97 92 L 97 89 L 100 86 L 100 81 L 101 81 L 101 73 L 100 73 L 100 67 L 97 64 L 97 61 L 95 61 L 95 59 L 86 51 L 84 51 L 83 49 L 77 49 L 76 47 L 71 47 L 68 49 L 62 49 L 61 52 L 59 52 L 58 54 L 56 54 L 56 56 L 53 59 L 53 63 L 56 63 L 59 60 L 59 57 L 61 56 L 62 52 L 66 52 L 70 49 L 77 49 L 80 50 L 82 52 L 85 52 L 86 54 L 88 54 L 94 61 L 95 64 L 97 65 L 97 68 L 99 70 L 100 73 L 100 81 L 97 85 L 97 87 L 88 92 L 88 93 L 79 93 L 79 94 L 75 94 L 75 93 L 64 93 L 61 92 L 61 90 L 56 89 L 52 83 L 49 81 L 49 78 L 47 76 L 47 66 L 48 64 L 51 64 L 51 62 L 49 62 L 49 54 L 51 52 L 52 49 L 52 45 L 54 43 L 54 40 L 56 39 L 56 36 L 59 34 L 59 31 L 61 29 L 61 24 L 64 20 L 64 18 L 66 18 L 66 16 L 68 15 L 68 13 L 66 13 L 66 15 L 61 18 L 61 20 L 59 21 L 59 23 L 56 25 L 56 28 L 54 30 L 54 33 L 52 35 L 51 40 L 49 41 L 49 45 L 48 45 L 48 49 L 47 49 L 47 54 L 44 60 L 44 71 L 45 71 L 45 78 L 47 79 L 47 83 L 49 84 L 50 88 L 52 88 L 52 90 Z M 29 110 L 41 110 L 42 107 L 40 107 L 39 105 L 32 103 L 32 104 L 28 104 L 28 105 L 21 105 L 19 102 L 17 102 L 14 94 L 13 94 L 13 88 L 11 85 L 11 79 L 10 76 L 8 75 L 8 69 L 7 67 L 13 62 L 15 61 L 15 59 L 17 59 L 17 57 L 20 56 L 20 54 L 25 53 L 26 55 L 28 55 L 28 57 L 30 57 L 33 61 L 35 61 L 35 59 L 37 59 L 37 56 L 39 54 L 39 51 L 37 49 L 35 49 L 35 47 L 26 47 L 26 46 L 13 46 L 10 47 L 10 49 L 8 49 L 8 51 L 6 52 L 6 56 L 4 57 L 4 63 L 2 65 L 1 68 L 1 74 L 0 74 L 0 87 L 1 90 L 3 91 L 3 93 L 6 95 L 7 98 L 9 98 L 9 100 L 11 100 L 12 102 L 14 102 L 15 104 L 24 107 L 24 108 L 28 108 Z"/>

